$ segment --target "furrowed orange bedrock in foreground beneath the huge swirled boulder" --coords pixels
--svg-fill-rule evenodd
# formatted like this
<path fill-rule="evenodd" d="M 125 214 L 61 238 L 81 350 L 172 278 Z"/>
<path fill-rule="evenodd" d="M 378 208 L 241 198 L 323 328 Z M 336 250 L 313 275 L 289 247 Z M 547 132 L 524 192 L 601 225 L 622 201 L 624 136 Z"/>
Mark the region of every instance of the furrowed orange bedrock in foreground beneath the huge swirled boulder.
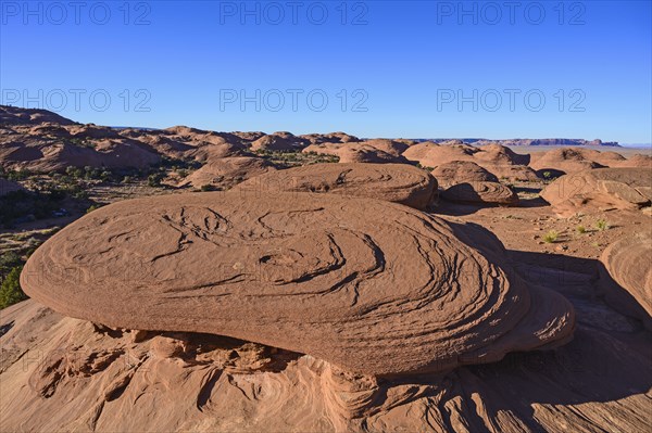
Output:
<path fill-rule="evenodd" d="M 386 380 L 214 335 L 102 330 L 26 301 L 0 315 L 0 425 L 11 432 L 647 431 L 649 336 L 612 335 L 595 324 L 554 352 Z"/>

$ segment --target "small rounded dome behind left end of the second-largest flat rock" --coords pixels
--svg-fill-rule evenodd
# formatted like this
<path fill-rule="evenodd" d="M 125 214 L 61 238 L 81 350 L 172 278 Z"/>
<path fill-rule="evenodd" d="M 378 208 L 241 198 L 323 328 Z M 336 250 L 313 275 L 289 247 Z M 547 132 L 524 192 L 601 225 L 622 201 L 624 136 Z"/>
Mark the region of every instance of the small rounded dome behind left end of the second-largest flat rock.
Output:
<path fill-rule="evenodd" d="M 208 160 L 201 168 L 184 179 L 180 186 L 191 184 L 195 188 L 213 186 L 230 188 L 242 180 L 255 177 L 276 168 L 260 157 L 229 156 Z"/>

